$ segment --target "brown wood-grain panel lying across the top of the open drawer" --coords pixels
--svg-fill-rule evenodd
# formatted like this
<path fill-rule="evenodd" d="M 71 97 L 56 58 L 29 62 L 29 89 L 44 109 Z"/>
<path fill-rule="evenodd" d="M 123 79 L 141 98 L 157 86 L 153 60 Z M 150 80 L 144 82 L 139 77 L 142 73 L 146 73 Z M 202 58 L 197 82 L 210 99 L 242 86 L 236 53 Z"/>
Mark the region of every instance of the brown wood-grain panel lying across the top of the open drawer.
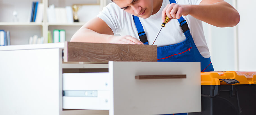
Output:
<path fill-rule="evenodd" d="M 65 42 L 64 62 L 157 62 L 156 45 Z"/>

